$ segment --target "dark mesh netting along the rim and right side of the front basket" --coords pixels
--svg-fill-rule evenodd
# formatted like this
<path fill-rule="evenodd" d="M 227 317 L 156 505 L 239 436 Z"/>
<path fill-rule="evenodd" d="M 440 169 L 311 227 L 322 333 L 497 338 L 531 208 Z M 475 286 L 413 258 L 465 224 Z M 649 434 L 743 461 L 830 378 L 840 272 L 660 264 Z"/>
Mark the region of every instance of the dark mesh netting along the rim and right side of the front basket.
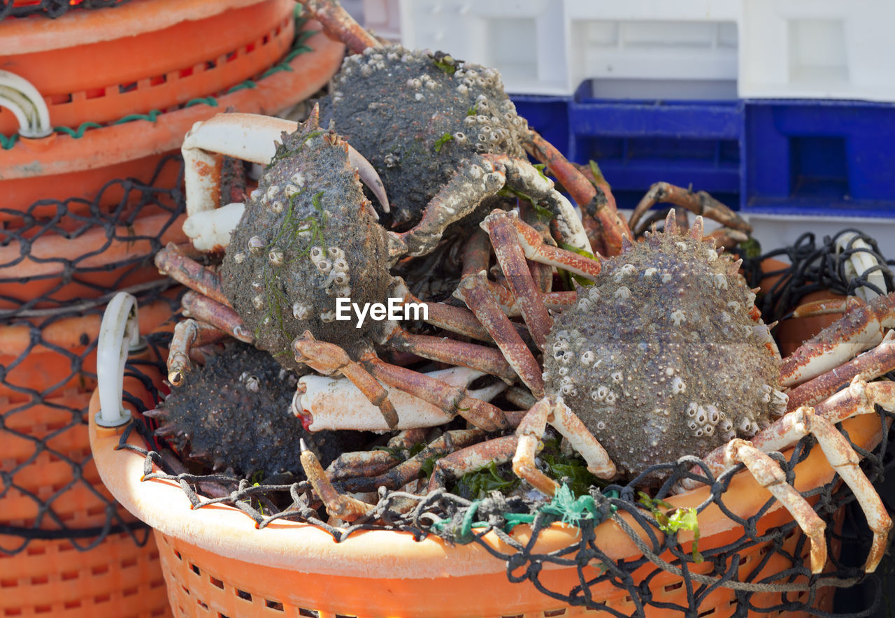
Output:
<path fill-rule="evenodd" d="M 875 250 L 872 239 L 866 236 L 861 238 L 870 245 L 866 251 Z M 793 265 L 783 272 L 772 274 L 781 276 L 781 281 L 785 284 L 774 287 L 763 297 L 761 307 L 765 311 L 765 318 L 770 322 L 774 316 L 785 316 L 806 293 L 813 292 L 816 285 L 834 291 L 851 291 L 858 285 L 868 284 L 867 273 L 858 275 L 857 282 L 847 283 L 849 276 L 843 260 L 853 250 L 857 249 L 852 248 L 837 255 L 835 239 L 824 239 L 823 243 L 818 244 L 810 236 L 800 239 L 795 247 L 783 250 L 792 259 Z M 763 256 L 765 257 L 767 256 Z M 749 283 L 752 285 L 757 285 L 758 279 L 763 276 L 758 267 L 761 261 L 762 258 L 746 261 L 746 275 L 751 279 Z M 891 269 L 884 261 L 874 271 L 882 272 L 885 283 L 891 286 Z M 141 377 L 141 382 L 147 384 L 148 362 L 131 361 L 125 370 L 125 376 Z M 164 372 L 164 369 L 153 368 L 153 372 L 158 371 Z M 157 401 L 158 386 L 153 385 L 151 388 Z M 139 398 L 125 393 L 125 399 L 139 411 L 145 411 L 145 405 Z M 874 483 L 881 482 L 885 473 L 891 473 L 895 465 L 890 447 L 892 434 L 889 430 L 893 415 L 880 407 L 877 407 L 877 412 L 879 419 L 874 419 L 874 423 L 880 424 L 881 444 L 873 453 L 855 445 L 857 453 L 862 457 L 862 468 Z M 644 475 L 659 469 L 670 472 L 669 480 L 653 496 L 652 505 L 669 497 L 671 487 L 681 478 L 702 478 L 703 485 L 709 488 L 708 497 L 702 504 L 696 505 L 696 511 L 719 508 L 739 526 L 736 533 L 723 539 L 722 544 L 716 543 L 711 547 L 696 547 L 689 542 L 678 543 L 677 534 L 657 521 L 653 510 L 649 508 L 651 501 L 644 504 L 641 500 L 638 495 L 638 478 L 626 485 L 591 487 L 588 493 L 578 497 L 560 492 L 546 505 L 542 502 L 529 502 L 523 497 L 506 498 L 497 494 L 491 494 L 482 500 L 467 500 L 442 490 L 422 497 L 380 489 L 379 504 L 375 512 L 347 528 L 334 528 L 321 519 L 318 510 L 312 508 L 314 502 L 307 482 L 260 486 L 247 479 L 226 475 L 174 474 L 166 459 L 158 452 L 147 452 L 127 444 L 127 438 L 133 429 L 141 432 L 148 444 L 154 442 L 149 429 L 141 423 L 133 424 L 120 441 L 123 448 L 138 450 L 146 455 L 144 480 L 175 480 L 194 508 L 228 504 L 251 517 L 258 528 L 264 528 L 281 519 L 308 522 L 326 529 L 337 542 L 344 541 L 361 530 L 388 529 L 409 532 L 415 538 L 434 534 L 450 543 L 477 543 L 496 559 L 506 563 L 509 580 L 531 580 L 545 595 L 567 605 L 584 605 L 611 615 L 643 614 L 647 609 L 694 616 L 697 612 L 700 616 L 709 615 L 719 609 L 712 605 L 712 598 L 717 597 L 713 593 L 721 588 L 733 591 L 732 600 L 725 603 L 729 602 L 737 615 L 747 611 L 757 614 L 809 612 L 830 615 L 819 609 L 818 598 L 832 589 L 848 588 L 862 580 L 873 587 L 875 600 L 871 607 L 857 614 L 853 606 L 850 615 L 871 614 L 881 598 L 878 576 L 865 575 L 861 563 L 848 562 L 844 553 L 840 554 L 835 550 L 836 547 L 848 544 L 859 548 L 857 553 L 863 558 L 871 538 L 854 495 L 840 483 L 838 477 L 804 494 L 827 523 L 827 542 L 834 548 L 827 570 L 819 575 L 812 575 L 805 558 L 808 541 L 800 534 L 797 524 L 788 520 L 782 525 L 769 527 L 762 521 L 763 515 L 769 512 L 774 503 L 772 498 L 754 516 L 747 518 L 737 517 L 729 509 L 729 505 L 725 504 L 724 492 L 734 473 L 742 470 L 742 466 L 720 478 L 712 478 L 707 470 L 704 472 L 705 476 L 701 477 L 690 471 L 699 461 L 693 457 L 685 457 L 678 462 L 655 466 L 644 472 Z M 771 454 L 780 462 L 789 481 L 793 478 L 793 468 L 798 462 L 805 460 L 813 444 L 813 438 L 808 437 L 797 444 L 788 458 L 780 453 Z M 164 471 L 153 472 L 154 465 Z M 206 491 L 209 487 L 215 487 L 216 492 Z M 209 497 L 210 494 L 221 497 Z M 405 508 L 407 500 L 415 504 L 409 512 Z M 401 501 L 405 502 L 401 508 L 393 508 Z M 282 508 L 283 504 L 288 506 Z M 891 505 L 887 504 L 887 508 L 891 510 Z M 625 515 L 624 518 L 622 514 Z M 638 547 L 642 554 L 640 557 L 618 561 L 609 558 L 595 542 L 597 525 L 606 520 L 618 524 L 622 533 Z M 535 542 L 555 521 L 577 526 L 581 535 L 567 547 L 549 554 L 536 553 L 533 549 Z M 530 540 L 526 539 L 522 543 L 509 534 L 518 524 L 531 526 Z M 483 542 L 484 535 L 490 532 L 496 534 L 512 551 L 504 553 L 495 549 L 493 544 Z M 551 589 L 544 583 L 546 578 L 542 577 L 550 565 L 575 568 L 579 574 L 579 585 L 572 589 Z M 679 581 L 663 586 L 662 582 L 667 580 L 669 574 Z M 659 582 L 658 586 L 653 586 L 653 581 Z M 624 590 L 626 605 L 632 609 L 623 611 L 618 605 L 607 605 L 600 597 L 592 594 L 594 588 L 607 584 Z M 669 591 L 676 593 L 676 600 L 669 600 Z M 731 611 L 729 607 L 724 609 L 727 613 Z"/>

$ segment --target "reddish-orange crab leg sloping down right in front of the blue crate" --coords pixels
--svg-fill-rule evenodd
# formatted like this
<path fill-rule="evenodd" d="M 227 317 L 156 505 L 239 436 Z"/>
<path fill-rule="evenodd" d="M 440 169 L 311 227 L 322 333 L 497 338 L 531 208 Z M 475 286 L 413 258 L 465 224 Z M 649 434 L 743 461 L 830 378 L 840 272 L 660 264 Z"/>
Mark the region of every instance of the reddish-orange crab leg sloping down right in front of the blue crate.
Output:
<path fill-rule="evenodd" d="M 524 142 L 523 146 L 528 154 L 547 165 L 550 173 L 557 177 L 575 203 L 581 207 L 582 212 L 592 220 L 594 227 L 588 236 L 593 248 L 588 250 L 603 255 L 618 255 L 622 237 L 630 237 L 631 230 L 625 219 L 618 215 L 609 183 L 602 177 L 593 181 L 588 180 L 556 147 L 544 140 L 536 131 L 529 130 L 529 140 Z"/>

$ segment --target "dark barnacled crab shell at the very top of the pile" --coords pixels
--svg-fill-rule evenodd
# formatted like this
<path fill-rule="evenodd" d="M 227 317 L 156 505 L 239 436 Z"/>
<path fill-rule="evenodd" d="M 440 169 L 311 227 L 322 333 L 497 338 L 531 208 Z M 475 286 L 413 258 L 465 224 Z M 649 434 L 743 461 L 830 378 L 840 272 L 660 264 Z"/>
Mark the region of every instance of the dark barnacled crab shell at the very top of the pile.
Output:
<path fill-rule="evenodd" d="M 320 102 L 323 126 L 363 153 L 388 190 L 391 220 L 415 224 L 429 200 L 475 153 L 524 158 L 528 123 L 500 74 L 449 55 L 400 45 L 349 55 Z M 494 207 L 486 199 L 478 224 Z"/>

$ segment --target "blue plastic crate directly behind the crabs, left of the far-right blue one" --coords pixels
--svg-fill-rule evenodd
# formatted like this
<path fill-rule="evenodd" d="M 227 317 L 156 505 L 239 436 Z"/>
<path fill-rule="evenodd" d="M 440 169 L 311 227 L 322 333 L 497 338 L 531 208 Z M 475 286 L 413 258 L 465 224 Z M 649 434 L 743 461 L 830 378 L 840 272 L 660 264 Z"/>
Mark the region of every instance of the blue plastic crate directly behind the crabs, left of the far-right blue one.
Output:
<path fill-rule="evenodd" d="M 659 181 L 692 184 L 738 206 L 741 102 L 601 99 L 584 88 L 575 97 L 553 97 L 551 107 L 543 105 L 546 98 L 513 100 L 519 113 L 570 160 L 600 164 L 619 207 L 635 207 Z M 565 131 L 558 128 L 563 112 Z"/>

